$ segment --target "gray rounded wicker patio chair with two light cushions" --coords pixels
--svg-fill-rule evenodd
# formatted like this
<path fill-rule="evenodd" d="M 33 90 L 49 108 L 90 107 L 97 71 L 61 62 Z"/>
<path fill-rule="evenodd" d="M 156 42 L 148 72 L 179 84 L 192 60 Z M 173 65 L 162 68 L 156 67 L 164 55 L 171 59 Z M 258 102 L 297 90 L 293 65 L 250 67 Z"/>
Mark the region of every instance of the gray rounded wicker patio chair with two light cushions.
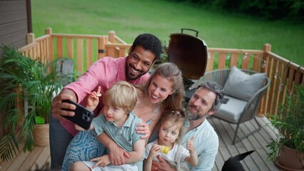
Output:
<path fill-rule="evenodd" d="M 225 90 L 224 98 L 227 98 L 228 101 L 222 103 L 221 108 L 212 116 L 228 123 L 237 124 L 233 145 L 261 129 L 255 115 L 258 112 L 265 90 L 270 85 L 270 80 L 265 73 L 240 70 L 235 67 L 210 71 L 191 86 L 191 90 L 186 90 L 186 99 L 190 100 L 196 87 L 202 81 L 214 81 Z M 237 138 L 240 124 L 249 120 L 255 120 L 258 128 L 251 130 L 250 133 L 243 135 L 241 138 Z"/>

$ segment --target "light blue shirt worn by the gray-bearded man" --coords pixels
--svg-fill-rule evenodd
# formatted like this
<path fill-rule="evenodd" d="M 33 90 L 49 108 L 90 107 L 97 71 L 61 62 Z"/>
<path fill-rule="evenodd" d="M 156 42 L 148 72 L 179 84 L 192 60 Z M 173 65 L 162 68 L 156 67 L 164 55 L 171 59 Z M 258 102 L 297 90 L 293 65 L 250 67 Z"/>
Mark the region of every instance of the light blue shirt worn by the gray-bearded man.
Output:
<path fill-rule="evenodd" d="M 189 127 L 189 121 L 186 120 L 185 127 Z M 188 165 L 190 170 L 212 170 L 218 154 L 218 135 L 208 120 L 204 120 L 198 128 L 189 130 L 188 133 L 183 135 L 181 144 L 186 147 L 187 140 L 194 137 L 194 147 L 198 153 L 198 165 L 192 167 Z"/>

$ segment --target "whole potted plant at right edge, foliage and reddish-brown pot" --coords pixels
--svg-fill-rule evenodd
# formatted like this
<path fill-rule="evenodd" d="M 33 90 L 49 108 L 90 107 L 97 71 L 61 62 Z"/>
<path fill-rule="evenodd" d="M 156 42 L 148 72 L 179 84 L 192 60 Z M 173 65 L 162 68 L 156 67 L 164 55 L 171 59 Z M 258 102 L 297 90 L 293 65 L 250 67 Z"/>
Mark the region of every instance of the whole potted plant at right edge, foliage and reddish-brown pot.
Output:
<path fill-rule="evenodd" d="M 296 93 L 288 96 L 278 106 L 278 113 L 270 117 L 278 133 L 276 140 L 267 145 L 268 159 L 283 170 L 304 170 L 304 87 L 295 88 Z"/>

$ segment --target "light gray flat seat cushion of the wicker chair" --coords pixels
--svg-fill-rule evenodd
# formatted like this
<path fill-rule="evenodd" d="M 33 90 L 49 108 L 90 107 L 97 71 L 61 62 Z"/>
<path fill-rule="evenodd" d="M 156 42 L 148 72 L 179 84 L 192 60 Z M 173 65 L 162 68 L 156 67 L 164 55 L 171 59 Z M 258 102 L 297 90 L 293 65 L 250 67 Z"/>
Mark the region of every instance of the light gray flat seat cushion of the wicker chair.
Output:
<path fill-rule="evenodd" d="M 247 101 L 233 98 L 229 95 L 225 95 L 225 98 L 229 99 L 228 102 L 226 104 L 222 104 L 221 108 L 216 111 L 213 116 L 226 120 L 230 123 L 238 123 L 240 114 L 243 112 Z"/>

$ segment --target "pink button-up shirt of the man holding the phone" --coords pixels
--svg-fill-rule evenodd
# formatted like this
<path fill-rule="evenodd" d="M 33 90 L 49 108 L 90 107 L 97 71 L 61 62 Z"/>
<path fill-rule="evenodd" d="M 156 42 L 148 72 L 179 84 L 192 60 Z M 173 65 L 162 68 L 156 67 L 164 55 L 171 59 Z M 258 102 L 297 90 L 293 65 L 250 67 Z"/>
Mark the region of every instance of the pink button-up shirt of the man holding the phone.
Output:
<path fill-rule="evenodd" d="M 140 78 L 131 81 L 131 83 L 145 83 L 149 77 L 150 74 L 146 73 Z M 101 94 L 104 94 L 108 88 L 118 81 L 126 81 L 126 58 L 103 57 L 93 63 L 93 65 L 88 68 L 88 71 L 78 78 L 77 81 L 70 83 L 64 88 L 73 90 L 78 98 L 78 103 L 86 107 L 89 93 L 93 90 L 97 91 L 98 86 L 101 86 Z M 94 110 L 94 115 L 98 115 L 102 108 L 103 100 L 100 98 L 99 104 Z M 60 120 L 60 122 L 71 135 L 78 133 L 78 130 L 74 128 L 74 123 L 64 120 Z"/>

